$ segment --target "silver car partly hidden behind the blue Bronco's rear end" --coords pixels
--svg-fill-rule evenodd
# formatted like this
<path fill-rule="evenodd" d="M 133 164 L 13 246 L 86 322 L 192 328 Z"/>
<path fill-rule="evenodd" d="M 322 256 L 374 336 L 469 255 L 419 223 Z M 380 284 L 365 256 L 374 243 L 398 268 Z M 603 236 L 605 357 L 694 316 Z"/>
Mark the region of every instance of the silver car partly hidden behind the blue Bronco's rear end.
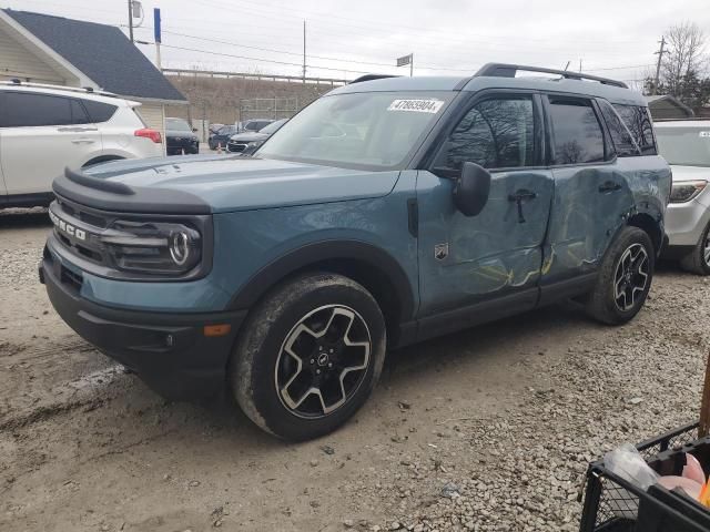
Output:
<path fill-rule="evenodd" d="M 673 172 L 663 255 L 698 275 L 710 275 L 710 120 L 656 123 L 660 153 Z"/>

